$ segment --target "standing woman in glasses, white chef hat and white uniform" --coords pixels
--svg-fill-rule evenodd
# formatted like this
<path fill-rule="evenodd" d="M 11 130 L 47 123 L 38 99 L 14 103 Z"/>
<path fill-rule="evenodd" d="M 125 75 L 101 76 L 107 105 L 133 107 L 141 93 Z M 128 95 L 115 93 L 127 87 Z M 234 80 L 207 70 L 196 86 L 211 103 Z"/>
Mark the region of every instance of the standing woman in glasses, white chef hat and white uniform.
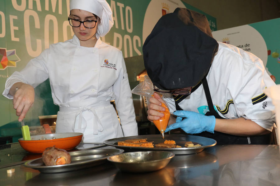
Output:
<path fill-rule="evenodd" d="M 109 4 L 70 0 L 68 20 L 72 39 L 50 45 L 7 78 L 3 95 L 13 99 L 18 121 L 34 102 L 34 87 L 49 78 L 59 106 L 56 133 L 82 132 L 84 142 L 138 135 L 122 52 L 100 40 L 114 24 Z"/>

